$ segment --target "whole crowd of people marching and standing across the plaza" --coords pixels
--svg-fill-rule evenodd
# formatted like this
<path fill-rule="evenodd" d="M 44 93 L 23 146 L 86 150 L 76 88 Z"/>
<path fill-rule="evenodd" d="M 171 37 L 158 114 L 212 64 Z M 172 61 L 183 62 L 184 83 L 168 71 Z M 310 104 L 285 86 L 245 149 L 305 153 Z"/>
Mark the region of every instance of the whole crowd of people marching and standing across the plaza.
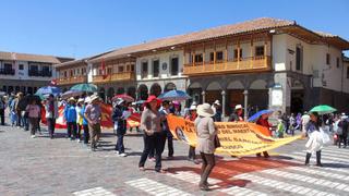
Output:
<path fill-rule="evenodd" d="M 67 121 L 67 138 L 83 142 L 89 146 L 92 151 L 98 148 L 98 142 L 101 136 L 101 99 L 97 95 L 82 96 L 79 98 L 71 97 L 69 99 L 58 100 L 53 95 L 49 95 L 45 100 L 37 99 L 37 97 L 24 97 L 22 93 L 16 96 L 11 95 L 8 100 L 1 98 L 0 115 L 1 125 L 4 125 L 4 110 L 9 108 L 9 117 L 12 126 L 22 127 L 24 131 L 31 131 L 31 137 L 35 138 L 36 133 L 40 133 L 41 112 L 45 112 L 45 120 L 48 126 L 48 134 L 51 139 L 55 138 L 56 120 L 59 118 L 58 109 L 63 106 L 63 118 Z M 244 108 L 241 105 L 234 107 L 233 112 L 228 118 L 228 122 L 244 121 Z M 183 113 L 181 113 L 183 111 Z M 179 101 L 161 101 L 156 96 L 149 96 L 147 100 L 137 105 L 136 102 L 128 102 L 124 99 L 118 98 L 112 100 L 113 130 L 117 135 L 115 150 L 120 157 L 127 157 L 125 147 L 123 143 L 127 134 L 128 123 L 127 119 L 131 113 L 141 113 L 141 123 L 136 127 L 136 132 L 143 133 L 144 149 L 139 161 L 140 171 L 145 170 L 146 160 L 155 162 L 155 171 L 166 172 L 161 166 L 161 155 L 165 150 L 166 143 L 168 147 L 168 159 L 173 158 L 173 137 L 167 123 L 167 115 L 181 115 L 185 120 L 192 121 L 196 127 L 197 145 L 189 146 L 188 160 L 195 164 L 200 162 L 196 159 L 195 151 L 200 152 L 202 162 L 202 175 L 200 181 L 200 188 L 208 191 L 207 179 L 215 167 L 215 149 L 219 147 L 217 137 L 217 128 L 214 122 L 220 122 L 221 109 L 219 100 L 209 103 L 197 105 L 192 102 L 189 108 L 182 110 Z M 282 138 L 285 134 L 294 135 L 294 131 L 300 131 L 303 135 L 309 137 L 305 145 L 305 166 L 309 166 L 311 155 L 316 154 L 316 166 L 322 167 L 321 149 L 324 147 L 321 132 L 323 125 L 326 124 L 330 132 L 338 135 L 338 147 L 347 146 L 348 137 L 348 117 L 341 115 L 325 115 L 321 117 L 316 112 L 298 113 L 297 115 L 278 113 L 275 133 L 272 132 L 272 124 L 268 121 L 269 114 L 262 114 L 256 124 L 266 127 L 269 133 L 268 136 Z M 132 128 L 130 128 L 132 131 Z M 196 148 L 196 149 L 195 149 Z M 261 157 L 262 154 L 257 154 Z M 263 156 L 268 158 L 267 151 L 263 151 Z"/>

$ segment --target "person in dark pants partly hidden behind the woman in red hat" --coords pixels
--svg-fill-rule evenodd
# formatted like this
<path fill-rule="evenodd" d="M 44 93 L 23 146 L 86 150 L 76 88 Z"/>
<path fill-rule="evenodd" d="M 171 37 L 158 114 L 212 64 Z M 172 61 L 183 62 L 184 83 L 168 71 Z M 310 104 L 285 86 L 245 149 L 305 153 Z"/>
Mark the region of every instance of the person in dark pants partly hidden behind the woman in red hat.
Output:
<path fill-rule="evenodd" d="M 161 137 L 163 137 L 163 144 L 161 144 L 161 147 L 163 147 L 163 151 L 165 149 L 165 144 L 166 144 L 166 139 L 167 139 L 167 148 L 168 148 L 168 158 L 169 159 L 172 159 L 173 158 L 173 154 L 174 154 L 174 150 L 173 150 L 173 136 L 170 132 L 170 128 L 168 127 L 168 123 L 167 123 L 167 115 L 170 113 L 170 110 L 169 110 L 169 101 L 163 101 L 163 107 L 161 109 L 159 110 L 160 114 L 161 114 Z"/>

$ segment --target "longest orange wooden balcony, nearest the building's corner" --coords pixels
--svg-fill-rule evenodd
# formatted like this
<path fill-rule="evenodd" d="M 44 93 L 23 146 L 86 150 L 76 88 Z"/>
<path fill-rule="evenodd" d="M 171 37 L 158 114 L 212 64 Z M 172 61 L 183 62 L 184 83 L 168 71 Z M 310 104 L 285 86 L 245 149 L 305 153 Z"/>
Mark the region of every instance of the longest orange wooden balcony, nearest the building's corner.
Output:
<path fill-rule="evenodd" d="M 246 73 L 255 71 L 269 71 L 272 58 L 269 56 L 244 58 L 221 62 L 200 62 L 196 64 L 184 64 L 184 75 L 206 75 L 225 73 Z"/>

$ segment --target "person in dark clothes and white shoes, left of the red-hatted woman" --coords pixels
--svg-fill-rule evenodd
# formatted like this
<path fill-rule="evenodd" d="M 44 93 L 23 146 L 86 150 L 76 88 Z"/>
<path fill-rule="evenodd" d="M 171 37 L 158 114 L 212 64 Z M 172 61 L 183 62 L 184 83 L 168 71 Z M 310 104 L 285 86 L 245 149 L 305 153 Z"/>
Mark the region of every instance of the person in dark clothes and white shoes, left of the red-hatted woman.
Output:
<path fill-rule="evenodd" d="M 116 125 L 115 127 L 116 127 L 117 137 L 118 137 L 116 151 L 120 157 L 127 157 L 127 154 L 124 152 L 124 146 L 123 146 L 123 136 L 127 133 L 127 120 L 123 117 L 123 112 L 125 110 L 127 110 L 125 101 L 123 99 L 118 99 L 111 117 Z"/>

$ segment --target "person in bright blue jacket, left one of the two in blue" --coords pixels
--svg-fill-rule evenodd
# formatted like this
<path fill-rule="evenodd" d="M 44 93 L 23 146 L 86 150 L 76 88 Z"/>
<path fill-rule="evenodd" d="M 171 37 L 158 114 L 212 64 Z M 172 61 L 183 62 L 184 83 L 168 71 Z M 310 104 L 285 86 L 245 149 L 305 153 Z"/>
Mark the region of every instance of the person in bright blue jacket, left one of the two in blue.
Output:
<path fill-rule="evenodd" d="M 68 105 L 64 109 L 64 118 L 67 121 L 67 138 L 74 140 L 76 137 L 76 110 L 75 110 L 75 99 L 73 97 L 69 98 Z"/>

